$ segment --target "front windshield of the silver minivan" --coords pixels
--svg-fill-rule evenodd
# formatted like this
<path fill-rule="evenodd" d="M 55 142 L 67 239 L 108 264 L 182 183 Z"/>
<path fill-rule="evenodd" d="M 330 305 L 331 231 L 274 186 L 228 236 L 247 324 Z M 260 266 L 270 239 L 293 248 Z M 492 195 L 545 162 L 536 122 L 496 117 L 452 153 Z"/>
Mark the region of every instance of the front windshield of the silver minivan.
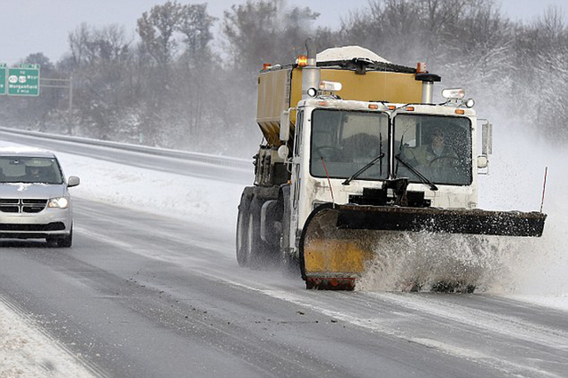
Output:
<path fill-rule="evenodd" d="M 63 177 L 54 158 L 0 156 L 0 183 L 57 185 Z"/>

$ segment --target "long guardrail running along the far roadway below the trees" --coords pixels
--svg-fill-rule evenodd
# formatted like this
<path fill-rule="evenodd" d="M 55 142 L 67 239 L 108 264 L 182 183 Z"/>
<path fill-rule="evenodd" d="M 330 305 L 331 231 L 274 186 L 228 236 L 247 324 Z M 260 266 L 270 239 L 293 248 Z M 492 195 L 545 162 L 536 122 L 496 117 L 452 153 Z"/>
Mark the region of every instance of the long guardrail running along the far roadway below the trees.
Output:
<path fill-rule="evenodd" d="M 82 138 L 82 137 L 71 137 L 68 135 L 59 135 L 59 134 L 49 134 L 46 132 L 40 131 L 31 131 L 31 130 L 20 130 L 20 129 L 9 129 L 0 127 L 0 131 L 8 132 L 17 135 L 27 135 L 30 137 L 36 138 L 47 138 L 47 139 L 54 139 L 54 140 L 63 140 L 67 142 L 73 143 L 81 143 L 84 145 L 91 145 L 91 146 L 105 146 L 110 148 L 116 148 L 124 151 L 132 151 L 142 154 L 154 154 L 158 156 L 166 156 L 172 157 L 177 159 L 183 159 L 188 161 L 199 161 L 208 164 L 214 165 L 221 165 L 225 167 L 233 167 L 237 169 L 246 169 L 251 170 L 252 161 L 246 159 L 239 159 L 239 158 L 231 158 L 226 156 L 218 156 L 212 154 L 201 154 L 201 153 L 191 153 L 187 151 L 179 151 L 179 150 L 171 150 L 168 148 L 158 148 L 158 147 L 151 147 L 151 146 L 138 146 L 138 145 L 130 145 L 128 143 L 120 143 L 120 142 L 111 142 L 107 140 L 99 140 L 99 139 L 91 139 L 91 138 Z"/>

